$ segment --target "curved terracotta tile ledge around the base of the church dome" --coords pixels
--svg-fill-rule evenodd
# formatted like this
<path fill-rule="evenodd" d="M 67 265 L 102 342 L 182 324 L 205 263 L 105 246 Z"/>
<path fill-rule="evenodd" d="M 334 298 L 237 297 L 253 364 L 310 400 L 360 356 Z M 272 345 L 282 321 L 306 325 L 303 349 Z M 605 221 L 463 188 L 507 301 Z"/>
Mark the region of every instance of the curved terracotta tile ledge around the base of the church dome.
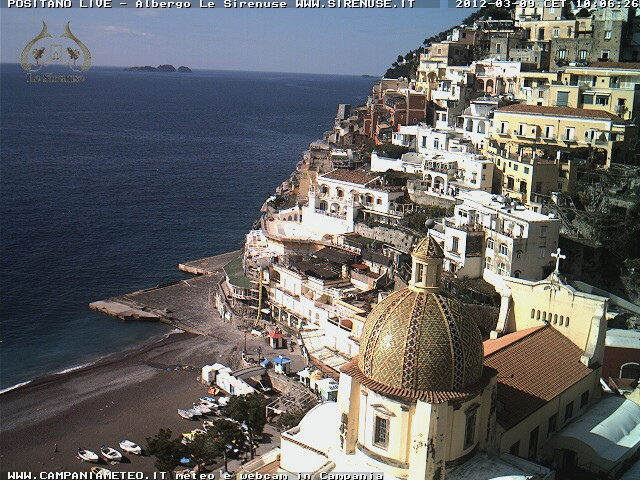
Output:
<path fill-rule="evenodd" d="M 489 384 L 491 378 L 496 375 L 493 368 L 485 366 L 483 368 L 482 377 L 474 385 L 466 387 L 455 392 L 435 391 L 435 390 L 413 390 L 408 388 L 394 388 L 383 385 L 375 380 L 367 377 L 358 367 L 358 356 L 354 357 L 349 363 L 343 365 L 340 371 L 346 373 L 352 378 L 358 380 L 362 385 L 370 388 L 374 392 L 389 397 L 396 397 L 402 400 L 422 400 L 427 403 L 444 403 L 450 400 L 466 401 L 476 395 Z"/>

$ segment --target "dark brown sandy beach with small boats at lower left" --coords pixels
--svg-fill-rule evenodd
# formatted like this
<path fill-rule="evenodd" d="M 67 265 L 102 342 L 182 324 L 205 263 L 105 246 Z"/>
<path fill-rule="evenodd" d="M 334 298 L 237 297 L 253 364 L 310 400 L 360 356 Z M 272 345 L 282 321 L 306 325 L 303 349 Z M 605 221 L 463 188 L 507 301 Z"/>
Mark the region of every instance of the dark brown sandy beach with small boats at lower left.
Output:
<path fill-rule="evenodd" d="M 197 382 L 203 365 L 220 362 L 237 367 L 244 343 L 235 326 L 221 324 L 219 331 L 216 337 L 172 334 L 0 395 L 1 470 L 88 471 L 91 465 L 76 458 L 78 447 L 98 453 L 102 444 L 119 449 L 123 439 L 144 447 L 145 438 L 160 428 L 170 428 L 177 435 L 201 426 L 201 422 L 181 419 L 177 409 L 191 406 L 206 394 L 206 387 Z M 261 345 L 267 355 L 275 354 L 264 339 L 248 337 L 249 348 Z M 265 432 L 259 453 L 279 443 L 272 427 Z M 155 470 L 153 457 L 129 455 L 128 460 L 108 468 Z"/>

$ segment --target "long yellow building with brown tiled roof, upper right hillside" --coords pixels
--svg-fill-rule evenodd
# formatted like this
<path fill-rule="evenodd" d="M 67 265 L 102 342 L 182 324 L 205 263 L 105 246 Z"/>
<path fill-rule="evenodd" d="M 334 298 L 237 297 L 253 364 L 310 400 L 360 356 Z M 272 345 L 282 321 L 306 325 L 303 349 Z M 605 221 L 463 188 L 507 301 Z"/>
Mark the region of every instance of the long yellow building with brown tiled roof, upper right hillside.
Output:
<path fill-rule="evenodd" d="M 572 190 L 579 163 L 631 160 L 637 126 L 605 111 L 508 105 L 494 111 L 487 154 L 502 172 L 503 193 L 523 203 Z"/>

